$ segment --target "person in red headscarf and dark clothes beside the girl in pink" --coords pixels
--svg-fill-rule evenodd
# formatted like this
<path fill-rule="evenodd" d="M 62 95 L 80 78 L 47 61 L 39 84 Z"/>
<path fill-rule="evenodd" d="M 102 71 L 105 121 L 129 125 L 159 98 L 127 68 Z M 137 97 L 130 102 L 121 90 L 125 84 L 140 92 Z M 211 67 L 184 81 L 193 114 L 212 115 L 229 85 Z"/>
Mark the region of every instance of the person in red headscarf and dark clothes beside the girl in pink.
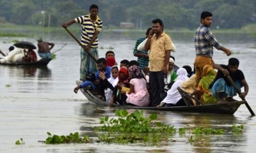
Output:
<path fill-rule="evenodd" d="M 122 94 L 121 91 L 122 87 L 130 87 L 130 80 L 131 79 L 129 78 L 127 67 L 122 66 L 118 72 L 118 83 L 111 96 L 111 101 L 109 104 L 110 106 L 114 103 L 117 103 L 118 105 L 125 105 L 127 96 L 125 94 Z"/>

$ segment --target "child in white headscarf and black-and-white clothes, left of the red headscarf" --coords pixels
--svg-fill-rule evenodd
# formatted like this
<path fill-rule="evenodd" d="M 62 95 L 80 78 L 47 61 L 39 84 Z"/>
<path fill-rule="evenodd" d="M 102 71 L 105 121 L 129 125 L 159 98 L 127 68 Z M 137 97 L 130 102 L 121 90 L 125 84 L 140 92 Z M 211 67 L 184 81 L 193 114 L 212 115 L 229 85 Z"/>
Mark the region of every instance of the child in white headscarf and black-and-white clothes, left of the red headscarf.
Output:
<path fill-rule="evenodd" d="M 118 82 L 118 66 L 112 66 L 111 76 L 109 79 L 106 78 L 105 73 L 100 73 L 100 78 L 103 80 L 103 84 L 106 87 L 105 89 L 106 102 L 110 103 L 111 96 Z"/>

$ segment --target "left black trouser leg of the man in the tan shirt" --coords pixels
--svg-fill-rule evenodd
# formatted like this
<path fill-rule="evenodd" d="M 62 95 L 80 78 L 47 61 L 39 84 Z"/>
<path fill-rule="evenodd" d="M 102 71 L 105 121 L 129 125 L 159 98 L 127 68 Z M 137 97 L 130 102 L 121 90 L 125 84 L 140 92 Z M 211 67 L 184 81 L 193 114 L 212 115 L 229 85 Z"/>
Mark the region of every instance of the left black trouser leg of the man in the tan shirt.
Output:
<path fill-rule="evenodd" d="M 151 106 L 159 105 L 160 92 L 156 72 L 149 71 L 149 86 L 152 91 Z"/>

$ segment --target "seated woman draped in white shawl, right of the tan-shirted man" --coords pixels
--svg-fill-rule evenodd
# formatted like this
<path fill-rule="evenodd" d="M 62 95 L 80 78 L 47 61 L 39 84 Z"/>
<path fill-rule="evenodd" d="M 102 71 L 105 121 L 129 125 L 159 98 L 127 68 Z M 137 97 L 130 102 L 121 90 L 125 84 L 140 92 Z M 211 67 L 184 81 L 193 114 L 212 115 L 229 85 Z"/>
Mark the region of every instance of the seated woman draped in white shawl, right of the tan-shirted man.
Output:
<path fill-rule="evenodd" d="M 166 98 L 158 106 L 186 106 L 186 103 L 182 99 L 177 87 L 180 87 L 182 82 L 188 80 L 188 73 L 186 69 L 179 68 L 177 71 L 177 80 L 173 83 L 171 89 L 167 91 Z"/>

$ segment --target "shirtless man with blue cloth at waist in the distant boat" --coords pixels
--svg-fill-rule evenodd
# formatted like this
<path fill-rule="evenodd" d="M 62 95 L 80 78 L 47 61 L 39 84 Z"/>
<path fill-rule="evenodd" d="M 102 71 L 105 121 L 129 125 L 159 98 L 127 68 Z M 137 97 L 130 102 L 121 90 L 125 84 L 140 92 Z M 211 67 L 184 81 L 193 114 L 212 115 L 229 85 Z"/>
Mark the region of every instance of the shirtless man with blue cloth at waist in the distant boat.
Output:
<path fill-rule="evenodd" d="M 37 41 L 38 55 L 45 60 L 52 59 L 50 50 L 54 47 L 54 43 L 43 41 L 42 38 L 39 38 Z"/>

